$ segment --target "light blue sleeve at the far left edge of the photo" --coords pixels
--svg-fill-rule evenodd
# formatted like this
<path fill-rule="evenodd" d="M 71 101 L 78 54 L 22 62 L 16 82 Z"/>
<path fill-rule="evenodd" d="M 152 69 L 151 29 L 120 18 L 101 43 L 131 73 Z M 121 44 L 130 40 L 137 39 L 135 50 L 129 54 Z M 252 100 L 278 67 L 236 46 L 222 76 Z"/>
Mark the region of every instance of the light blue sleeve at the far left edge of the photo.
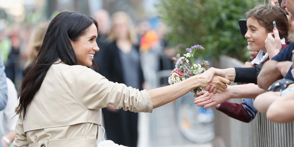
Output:
<path fill-rule="evenodd" d="M 7 84 L 5 66 L 0 54 L 0 111 L 3 110 L 7 103 Z"/>

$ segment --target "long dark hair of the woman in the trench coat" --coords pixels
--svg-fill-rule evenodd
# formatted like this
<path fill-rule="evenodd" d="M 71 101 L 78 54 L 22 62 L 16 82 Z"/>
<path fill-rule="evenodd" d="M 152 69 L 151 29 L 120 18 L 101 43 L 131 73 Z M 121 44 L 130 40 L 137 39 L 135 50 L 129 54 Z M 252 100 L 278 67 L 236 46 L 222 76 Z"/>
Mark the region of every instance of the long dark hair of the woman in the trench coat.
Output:
<path fill-rule="evenodd" d="M 50 66 L 58 58 L 67 65 L 77 65 L 77 58 L 70 40 L 77 41 L 93 23 L 98 30 L 98 24 L 93 18 L 78 12 L 62 12 L 51 21 L 35 65 L 26 74 L 21 85 L 20 103 L 16 113 L 21 115 L 23 112 L 23 119 L 25 119 L 27 107 L 40 89 Z"/>

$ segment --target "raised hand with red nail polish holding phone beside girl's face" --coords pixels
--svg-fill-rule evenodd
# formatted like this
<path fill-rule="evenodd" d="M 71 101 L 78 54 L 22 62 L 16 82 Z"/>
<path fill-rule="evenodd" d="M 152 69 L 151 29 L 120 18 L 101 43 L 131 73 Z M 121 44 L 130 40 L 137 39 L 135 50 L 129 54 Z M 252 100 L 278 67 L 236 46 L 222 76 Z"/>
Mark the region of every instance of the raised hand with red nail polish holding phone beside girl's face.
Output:
<path fill-rule="evenodd" d="M 269 54 L 270 59 L 280 52 L 282 48 L 282 43 L 277 28 L 273 29 L 273 33 L 269 33 L 267 35 L 265 43 L 266 51 Z"/>

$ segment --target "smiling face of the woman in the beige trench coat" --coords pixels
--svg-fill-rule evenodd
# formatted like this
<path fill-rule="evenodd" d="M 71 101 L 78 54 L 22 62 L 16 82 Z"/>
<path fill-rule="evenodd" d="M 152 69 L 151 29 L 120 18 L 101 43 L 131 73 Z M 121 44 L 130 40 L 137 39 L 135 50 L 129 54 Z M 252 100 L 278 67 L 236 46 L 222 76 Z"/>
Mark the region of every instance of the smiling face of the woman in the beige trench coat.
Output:
<path fill-rule="evenodd" d="M 72 41 L 77 63 L 82 66 L 91 66 L 95 51 L 99 51 L 96 43 L 97 28 L 94 24 L 90 25 L 88 31 L 80 36 L 77 41 Z"/>

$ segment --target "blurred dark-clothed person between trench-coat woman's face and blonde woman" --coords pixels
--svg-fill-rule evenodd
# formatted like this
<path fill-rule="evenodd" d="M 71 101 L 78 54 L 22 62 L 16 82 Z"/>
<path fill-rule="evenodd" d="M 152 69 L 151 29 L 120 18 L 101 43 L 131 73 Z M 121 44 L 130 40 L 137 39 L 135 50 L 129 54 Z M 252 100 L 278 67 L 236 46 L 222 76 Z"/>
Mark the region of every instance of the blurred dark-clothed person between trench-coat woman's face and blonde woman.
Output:
<path fill-rule="evenodd" d="M 110 17 L 106 10 L 101 9 L 95 12 L 94 19 L 97 21 L 99 25 L 99 31 L 96 42 L 100 50 L 99 52 L 96 52 L 94 55 L 94 60 L 98 66 L 98 69 L 95 69 L 95 67 L 93 68 L 96 72 L 103 74 L 103 71 L 101 71 L 100 69 L 103 69 L 103 66 L 105 65 L 104 61 L 102 60 L 102 56 L 104 55 L 104 52 L 106 51 L 106 46 L 108 44 L 107 36 L 111 27 Z"/>

